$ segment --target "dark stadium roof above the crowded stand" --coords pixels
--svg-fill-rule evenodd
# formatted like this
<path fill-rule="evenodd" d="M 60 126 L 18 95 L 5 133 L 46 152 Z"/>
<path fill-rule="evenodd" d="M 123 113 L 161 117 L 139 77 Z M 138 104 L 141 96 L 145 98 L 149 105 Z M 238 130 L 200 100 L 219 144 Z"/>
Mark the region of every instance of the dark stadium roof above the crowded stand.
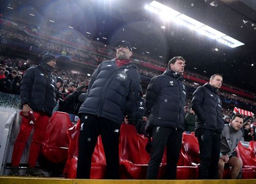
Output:
<path fill-rule="evenodd" d="M 16 15 L 31 23 L 58 27 L 62 31 L 73 30 L 110 45 L 117 40 L 127 40 L 136 48 L 133 50 L 137 54 L 165 64 L 174 56 L 182 56 L 190 71 L 208 77 L 221 73 L 224 83 L 256 92 L 255 1 L 158 0 L 161 6 L 183 14 L 178 21 L 173 17 L 179 14 L 148 11 L 152 2 L 13 0 L 2 3 L 0 13 L 3 17 Z M 193 29 L 188 29 L 187 22 L 180 21 L 187 17 L 195 20 Z M 198 22 L 201 24 L 196 24 Z M 227 40 L 209 38 L 205 30 L 195 31 L 202 24 L 217 30 L 218 38 L 228 36 L 227 40 L 236 39 L 242 44 L 230 47 Z"/>

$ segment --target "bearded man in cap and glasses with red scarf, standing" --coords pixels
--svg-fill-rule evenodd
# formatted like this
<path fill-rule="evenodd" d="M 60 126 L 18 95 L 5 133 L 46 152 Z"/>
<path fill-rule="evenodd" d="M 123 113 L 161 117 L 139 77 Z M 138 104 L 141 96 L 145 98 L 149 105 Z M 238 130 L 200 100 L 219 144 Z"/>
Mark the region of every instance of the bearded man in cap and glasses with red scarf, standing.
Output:
<path fill-rule="evenodd" d="M 115 48 L 116 59 L 102 62 L 92 74 L 88 96 L 79 109 L 77 178 L 90 178 L 92 153 L 99 135 L 106 157 L 106 178 L 119 178 L 120 125 L 127 114 L 125 110 L 136 106 L 140 76 L 130 61 L 131 44 L 119 41 Z"/>

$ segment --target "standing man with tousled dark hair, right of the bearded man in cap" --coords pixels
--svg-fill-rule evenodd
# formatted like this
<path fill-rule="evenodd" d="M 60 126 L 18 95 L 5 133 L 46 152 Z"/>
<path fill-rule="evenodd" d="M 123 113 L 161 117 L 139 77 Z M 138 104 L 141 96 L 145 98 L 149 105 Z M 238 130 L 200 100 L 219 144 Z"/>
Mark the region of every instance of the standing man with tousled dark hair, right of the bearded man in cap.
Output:
<path fill-rule="evenodd" d="M 159 166 L 166 149 L 167 166 L 165 179 L 176 179 L 182 133 L 184 131 L 184 106 L 186 90 L 182 81 L 185 60 L 174 57 L 162 75 L 152 78 L 147 87 L 146 110 L 150 113 L 147 132 L 153 137 L 151 159 L 147 179 L 157 179 Z"/>

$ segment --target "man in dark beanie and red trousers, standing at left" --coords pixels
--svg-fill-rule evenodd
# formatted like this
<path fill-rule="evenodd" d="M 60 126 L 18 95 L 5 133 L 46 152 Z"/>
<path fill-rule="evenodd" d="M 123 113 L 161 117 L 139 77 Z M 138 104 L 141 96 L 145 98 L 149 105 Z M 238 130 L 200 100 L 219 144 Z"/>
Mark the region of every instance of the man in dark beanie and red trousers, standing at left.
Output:
<path fill-rule="evenodd" d="M 56 58 L 48 51 L 42 52 L 40 57 L 40 65 L 27 69 L 20 84 L 20 101 L 23 107 L 20 112 L 22 124 L 13 148 L 10 175 L 19 175 L 20 158 L 31 130 L 34 128 L 26 175 L 44 176 L 38 169 L 35 169 L 35 164 L 49 118 L 56 105 L 56 79 L 52 75 Z"/>

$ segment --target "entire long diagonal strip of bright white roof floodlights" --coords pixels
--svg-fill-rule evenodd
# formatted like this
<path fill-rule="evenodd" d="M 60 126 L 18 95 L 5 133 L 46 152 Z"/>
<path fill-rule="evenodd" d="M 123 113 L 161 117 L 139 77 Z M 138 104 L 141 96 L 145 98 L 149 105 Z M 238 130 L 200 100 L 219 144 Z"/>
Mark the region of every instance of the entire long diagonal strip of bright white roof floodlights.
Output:
<path fill-rule="evenodd" d="M 215 39 L 220 43 L 223 43 L 231 48 L 244 45 L 244 43 L 231 38 L 230 36 L 225 35 L 214 28 L 209 27 L 208 25 L 203 24 L 185 14 L 169 8 L 157 1 L 151 2 L 149 5 L 145 6 L 145 9 L 151 11 L 155 14 L 158 14 L 164 20 L 174 20 L 176 23 L 184 25 L 190 30 L 194 30 L 202 35 L 205 35 L 211 39 Z"/>

